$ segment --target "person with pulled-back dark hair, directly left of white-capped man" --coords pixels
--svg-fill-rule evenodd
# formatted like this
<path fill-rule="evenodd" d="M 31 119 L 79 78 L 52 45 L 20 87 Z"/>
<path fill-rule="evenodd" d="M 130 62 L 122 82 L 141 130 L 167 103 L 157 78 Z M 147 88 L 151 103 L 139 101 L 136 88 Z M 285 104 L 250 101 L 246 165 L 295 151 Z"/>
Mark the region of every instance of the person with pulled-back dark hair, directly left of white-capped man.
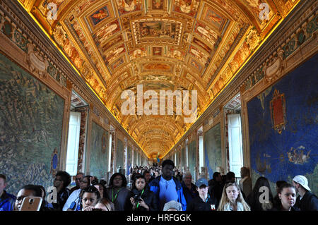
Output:
<path fill-rule="evenodd" d="M 296 189 L 290 183 L 284 183 L 278 190 L 279 205 L 273 207 L 272 211 L 300 211 L 294 207 L 296 202 Z"/>

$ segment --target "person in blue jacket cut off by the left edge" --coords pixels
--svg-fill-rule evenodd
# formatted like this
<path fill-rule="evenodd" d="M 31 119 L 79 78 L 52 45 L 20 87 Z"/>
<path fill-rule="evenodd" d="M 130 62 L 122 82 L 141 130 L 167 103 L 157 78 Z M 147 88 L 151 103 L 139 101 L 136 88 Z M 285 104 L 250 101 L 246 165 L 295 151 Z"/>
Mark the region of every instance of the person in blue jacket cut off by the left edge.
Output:
<path fill-rule="evenodd" d="M 0 211 L 13 211 L 16 196 L 6 193 L 6 176 L 0 174 Z"/>

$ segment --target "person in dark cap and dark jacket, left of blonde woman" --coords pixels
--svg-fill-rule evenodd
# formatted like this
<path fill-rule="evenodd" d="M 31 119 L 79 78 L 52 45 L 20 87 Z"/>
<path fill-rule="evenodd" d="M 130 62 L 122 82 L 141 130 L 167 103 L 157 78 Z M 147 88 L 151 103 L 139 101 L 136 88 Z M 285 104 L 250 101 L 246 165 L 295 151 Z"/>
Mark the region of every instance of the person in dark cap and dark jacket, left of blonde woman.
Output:
<path fill-rule="evenodd" d="M 218 200 L 208 194 L 208 181 L 205 178 L 196 181 L 196 190 L 199 196 L 194 197 L 187 205 L 187 211 L 216 211 L 218 209 Z"/>

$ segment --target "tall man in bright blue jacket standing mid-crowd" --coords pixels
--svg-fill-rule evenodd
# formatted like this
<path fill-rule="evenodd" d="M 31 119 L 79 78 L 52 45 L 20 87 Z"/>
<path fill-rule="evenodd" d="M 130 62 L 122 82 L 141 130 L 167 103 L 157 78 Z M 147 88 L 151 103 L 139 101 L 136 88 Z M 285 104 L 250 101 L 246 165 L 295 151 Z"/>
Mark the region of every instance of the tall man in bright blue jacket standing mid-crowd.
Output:
<path fill-rule="evenodd" d="M 174 162 L 170 159 L 163 161 L 163 175 L 155 178 L 149 183 L 150 190 L 158 197 L 158 209 L 163 210 L 166 202 L 175 200 L 181 203 L 182 210 L 186 211 L 187 202 L 183 195 L 181 183 L 172 176 L 175 168 Z"/>

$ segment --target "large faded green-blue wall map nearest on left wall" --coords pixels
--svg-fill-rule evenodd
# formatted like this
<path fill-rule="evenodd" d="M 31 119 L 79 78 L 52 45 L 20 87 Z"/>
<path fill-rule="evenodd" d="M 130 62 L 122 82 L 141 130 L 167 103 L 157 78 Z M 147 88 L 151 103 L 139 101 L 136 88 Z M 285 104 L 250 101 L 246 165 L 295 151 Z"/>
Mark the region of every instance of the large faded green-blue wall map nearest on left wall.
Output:
<path fill-rule="evenodd" d="M 0 54 L 0 171 L 17 194 L 52 186 L 59 168 L 64 99 Z"/>

